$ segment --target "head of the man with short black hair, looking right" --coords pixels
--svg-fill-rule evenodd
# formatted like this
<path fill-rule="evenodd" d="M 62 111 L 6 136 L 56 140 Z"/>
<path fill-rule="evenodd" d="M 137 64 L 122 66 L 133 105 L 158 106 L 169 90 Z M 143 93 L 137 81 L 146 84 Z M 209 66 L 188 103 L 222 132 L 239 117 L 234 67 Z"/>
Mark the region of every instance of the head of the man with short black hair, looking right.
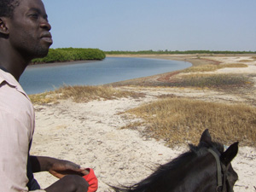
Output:
<path fill-rule="evenodd" d="M 52 39 L 44 3 L 41 0 L 0 2 L 0 38 L 7 43 L 6 47 L 25 60 L 47 55 Z"/>

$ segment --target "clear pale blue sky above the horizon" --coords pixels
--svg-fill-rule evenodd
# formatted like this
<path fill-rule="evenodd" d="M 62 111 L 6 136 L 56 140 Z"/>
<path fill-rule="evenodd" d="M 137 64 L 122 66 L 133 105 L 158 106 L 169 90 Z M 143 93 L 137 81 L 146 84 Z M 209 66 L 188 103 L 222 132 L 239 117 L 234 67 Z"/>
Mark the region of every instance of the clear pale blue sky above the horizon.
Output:
<path fill-rule="evenodd" d="M 52 48 L 256 51 L 255 0 L 43 0 Z"/>

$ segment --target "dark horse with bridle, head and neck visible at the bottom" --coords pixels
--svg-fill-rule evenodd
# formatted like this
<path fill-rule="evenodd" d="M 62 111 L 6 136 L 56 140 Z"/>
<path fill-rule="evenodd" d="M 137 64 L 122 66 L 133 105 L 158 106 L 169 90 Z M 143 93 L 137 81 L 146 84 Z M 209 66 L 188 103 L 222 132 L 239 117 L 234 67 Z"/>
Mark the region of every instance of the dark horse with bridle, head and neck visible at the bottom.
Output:
<path fill-rule="evenodd" d="M 206 130 L 198 146 L 189 144 L 189 148 L 141 182 L 113 189 L 116 192 L 232 192 L 238 176 L 230 162 L 238 152 L 238 143 L 224 151 L 224 146 L 212 142 Z"/>

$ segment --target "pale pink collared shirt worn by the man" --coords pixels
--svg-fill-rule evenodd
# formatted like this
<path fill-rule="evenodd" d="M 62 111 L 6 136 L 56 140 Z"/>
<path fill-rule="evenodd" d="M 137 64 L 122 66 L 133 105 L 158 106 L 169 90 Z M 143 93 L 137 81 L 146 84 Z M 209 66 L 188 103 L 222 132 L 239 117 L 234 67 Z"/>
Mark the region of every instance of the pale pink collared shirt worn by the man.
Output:
<path fill-rule="evenodd" d="M 35 114 L 32 102 L 16 79 L 0 69 L 1 191 L 28 191 L 26 163 L 34 127 Z"/>

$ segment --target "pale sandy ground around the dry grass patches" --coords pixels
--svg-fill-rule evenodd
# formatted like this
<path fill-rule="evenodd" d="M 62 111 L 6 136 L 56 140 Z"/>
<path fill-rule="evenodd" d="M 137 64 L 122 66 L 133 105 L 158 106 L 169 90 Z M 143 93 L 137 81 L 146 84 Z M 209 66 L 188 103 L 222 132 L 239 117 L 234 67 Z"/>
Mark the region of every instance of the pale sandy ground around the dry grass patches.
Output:
<path fill-rule="evenodd" d="M 112 55 L 113 56 L 113 55 Z M 127 56 L 127 55 L 121 55 Z M 133 56 L 133 55 L 130 55 Z M 222 68 L 206 73 L 255 74 L 256 55 L 137 55 L 148 58 L 189 61 L 194 66 L 207 63 L 245 63 L 247 67 Z M 159 79 L 166 74 L 145 78 Z M 253 76 L 254 77 L 254 76 Z M 143 137 L 137 130 L 121 129 L 131 121 L 125 112 L 143 103 L 156 101 L 158 96 L 173 94 L 191 99 L 212 102 L 244 102 L 254 105 L 256 98 L 256 78 L 252 90 L 247 93 L 223 93 L 217 90 L 192 88 L 128 86 L 125 81 L 115 89 L 131 90 L 145 94 L 143 98 L 120 98 L 76 103 L 71 99 L 57 104 L 35 105 L 36 131 L 31 154 L 51 156 L 71 160 L 95 170 L 99 179 L 99 192 L 108 191 L 108 184 L 136 183 L 147 177 L 160 164 L 164 164 L 186 151 L 182 147 L 167 148 L 165 142 Z M 137 79 L 133 79 L 137 81 Z M 214 138 L 213 138 L 214 139 Z M 224 143 L 225 144 L 225 143 Z M 232 165 L 239 175 L 235 192 L 256 191 L 256 149 L 240 146 Z M 36 173 L 42 188 L 56 181 L 47 172 Z"/>

